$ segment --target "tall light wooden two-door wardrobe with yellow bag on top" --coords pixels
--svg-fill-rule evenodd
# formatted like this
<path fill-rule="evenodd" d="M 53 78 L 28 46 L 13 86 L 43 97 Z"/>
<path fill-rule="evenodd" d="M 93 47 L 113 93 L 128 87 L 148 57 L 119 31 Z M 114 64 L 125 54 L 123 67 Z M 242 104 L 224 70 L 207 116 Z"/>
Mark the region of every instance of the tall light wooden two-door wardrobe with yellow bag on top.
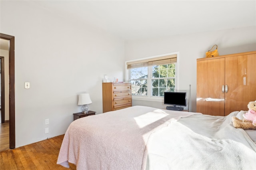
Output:
<path fill-rule="evenodd" d="M 256 51 L 197 59 L 196 112 L 226 116 L 256 101 Z"/>

